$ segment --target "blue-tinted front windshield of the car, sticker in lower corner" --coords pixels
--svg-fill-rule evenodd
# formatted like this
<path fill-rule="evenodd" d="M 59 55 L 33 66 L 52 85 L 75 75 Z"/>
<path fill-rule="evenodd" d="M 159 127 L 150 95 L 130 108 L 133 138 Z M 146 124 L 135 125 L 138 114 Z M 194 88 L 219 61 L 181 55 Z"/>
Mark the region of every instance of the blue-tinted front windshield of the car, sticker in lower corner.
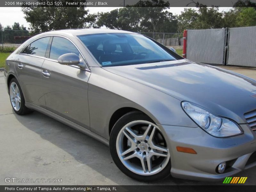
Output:
<path fill-rule="evenodd" d="M 161 46 L 140 34 L 101 33 L 78 38 L 103 67 L 176 60 Z"/>

